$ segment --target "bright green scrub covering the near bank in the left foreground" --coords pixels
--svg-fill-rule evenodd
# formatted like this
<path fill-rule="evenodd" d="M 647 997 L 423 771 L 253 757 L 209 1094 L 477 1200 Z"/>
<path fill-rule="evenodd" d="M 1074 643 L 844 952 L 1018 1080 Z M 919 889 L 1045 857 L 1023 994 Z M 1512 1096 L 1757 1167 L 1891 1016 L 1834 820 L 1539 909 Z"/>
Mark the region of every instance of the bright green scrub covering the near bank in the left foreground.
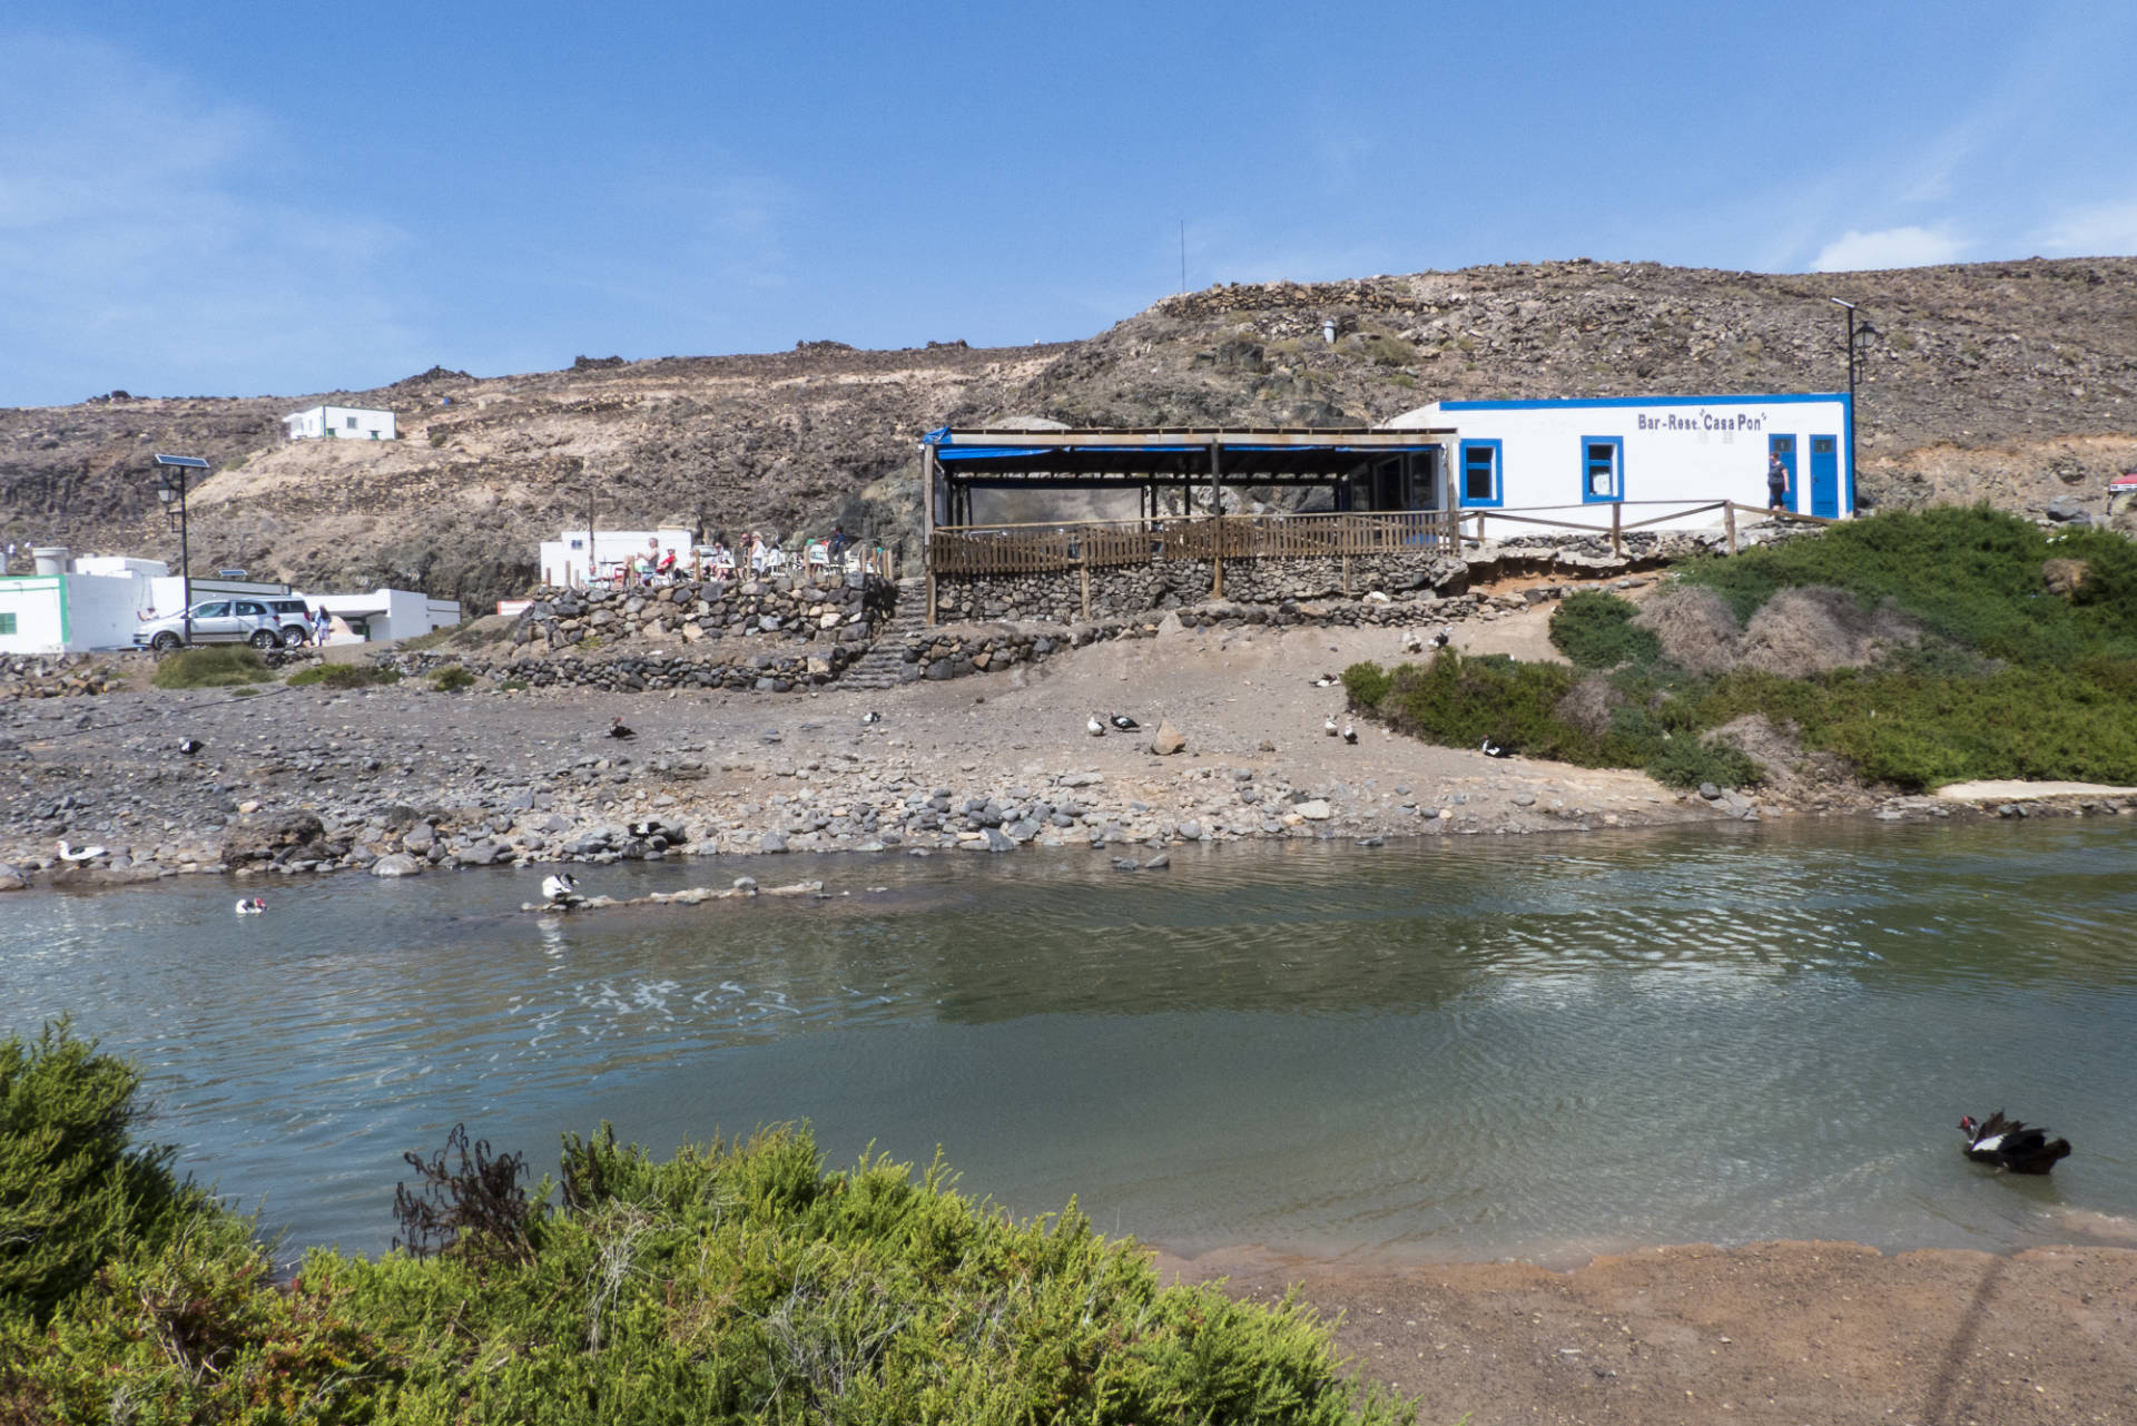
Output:
<path fill-rule="evenodd" d="M 1297 1300 L 1160 1287 L 1073 1204 L 1017 1223 L 940 1161 L 827 1172 L 797 1127 L 667 1161 L 603 1127 L 532 1189 L 519 1154 L 462 1129 L 408 1157 L 408 1249 L 318 1249 L 284 1283 L 250 1221 L 171 1180 L 169 1150 L 124 1144 L 135 1069 L 64 1024 L 9 1041 L 0 1069 L 4 1420 L 1415 1415 L 1351 1381 Z M 66 1193 L 30 1193 L 77 1159 Z"/>

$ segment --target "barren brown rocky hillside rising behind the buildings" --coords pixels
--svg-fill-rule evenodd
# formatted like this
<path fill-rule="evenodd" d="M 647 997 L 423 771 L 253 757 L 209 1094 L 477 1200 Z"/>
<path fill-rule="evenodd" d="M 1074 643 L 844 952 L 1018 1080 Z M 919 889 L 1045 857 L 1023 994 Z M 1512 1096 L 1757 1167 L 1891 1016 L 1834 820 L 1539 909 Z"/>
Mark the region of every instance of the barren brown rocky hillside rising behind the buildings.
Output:
<path fill-rule="evenodd" d="M 2107 477 L 2137 466 L 2137 259 L 1823 276 L 1573 261 L 1210 289 L 1064 346 L 810 342 L 0 410 L 0 530 L 175 554 L 150 455 L 180 449 L 216 462 L 192 505 L 197 569 L 481 605 L 526 590 L 536 541 L 583 522 L 588 498 L 603 524 L 789 532 L 844 517 L 895 543 L 917 513 L 915 440 L 942 421 L 1329 425 L 1440 398 L 1840 389 L 1827 297 L 1870 323 L 1868 500 L 2099 511 Z M 404 438 L 282 443 L 278 417 L 321 400 L 391 406 Z"/>

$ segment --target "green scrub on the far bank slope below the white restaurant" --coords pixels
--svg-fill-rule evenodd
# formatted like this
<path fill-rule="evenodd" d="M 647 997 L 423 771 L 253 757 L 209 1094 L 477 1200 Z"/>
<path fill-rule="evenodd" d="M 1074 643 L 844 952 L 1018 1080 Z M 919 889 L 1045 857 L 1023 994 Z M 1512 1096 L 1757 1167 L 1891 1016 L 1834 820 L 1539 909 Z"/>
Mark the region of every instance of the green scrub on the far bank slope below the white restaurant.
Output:
<path fill-rule="evenodd" d="M 2120 534 L 2045 532 L 1985 507 L 1891 513 L 1695 560 L 1675 582 L 1712 590 L 1725 624 L 1748 626 L 1784 590 L 1804 590 L 1917 637 L 1806 676 L 1731 658 L 1695 671 L 1667 656 L 1633 603 L 1584 590 L 1551 616 L 1551 644 L 1573 667 L 1440 650 L 1425 667 L 1355 665 L 1351 703 L 1432 742 L 1645 768 L 1671 787 L 1759 780 L 1718 735 L 1752 714 L 1904 789 L 2137 780 L 2137 545 Z"/>

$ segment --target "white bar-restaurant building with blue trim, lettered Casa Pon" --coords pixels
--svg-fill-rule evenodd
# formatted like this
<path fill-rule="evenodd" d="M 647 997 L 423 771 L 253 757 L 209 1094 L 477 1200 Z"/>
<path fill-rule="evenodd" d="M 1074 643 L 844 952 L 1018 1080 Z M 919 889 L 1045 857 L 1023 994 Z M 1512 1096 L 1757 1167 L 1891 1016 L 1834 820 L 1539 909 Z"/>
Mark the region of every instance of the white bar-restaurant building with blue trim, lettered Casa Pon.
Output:
<path fill-rule="evenodd" d="M 1851 419 L 1842 391 L 1434 402 L 1387 425 L 1455 432 L 1447 445 L 1457 509 L 1558 509 L 1594 526 L 1609 524 L 1609 505 L 1626 507 L 1626 524 L 1667 515 L 1667 505 L 1765 509 L 1769 455 L 1789 470 L 1791 511 L 1853 515 Z M 1712 524 L 1707 511 L 1650 528 Z"/>

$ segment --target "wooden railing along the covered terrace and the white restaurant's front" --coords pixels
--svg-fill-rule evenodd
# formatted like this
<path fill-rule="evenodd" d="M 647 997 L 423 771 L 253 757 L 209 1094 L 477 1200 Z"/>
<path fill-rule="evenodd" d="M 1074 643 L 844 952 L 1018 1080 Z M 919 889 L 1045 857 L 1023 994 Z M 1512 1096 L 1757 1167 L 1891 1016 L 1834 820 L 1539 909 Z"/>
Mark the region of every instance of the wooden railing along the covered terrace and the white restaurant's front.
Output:
<path fill-rule="evenodd" d="M 1609 511 L 1609 524 L 1592 520 Z M 1660 509 L 1643 520 L 1628 511 Z M 1571 520 L 1556 511 L 1573 511 Z M 1737 547 L 1737 515 L 1836 524 L 1825 515 L 1769 511 L 1733 500 L 1613 500 L 1605 505 L 1537 505 L 1522 509 L 1395 511 L 1342 515 L 1218 515 L 1158 520 L 1088 520 L 1075 524 L 998 524 L 938 528 L 927 545 L 934 575 L 1032 575 L 1066 569 L 1150 564 L 1156 560 L 1284 560 L 1366 554 L 1434 556 L 1462 541 L 1483 543 L 1492 526 L 1605 534 L 1624 549 L 1631 530 L 1718 513 L 1729 554 Z M 1515 528 L 1507 528 L 1515 526 Z"/>

